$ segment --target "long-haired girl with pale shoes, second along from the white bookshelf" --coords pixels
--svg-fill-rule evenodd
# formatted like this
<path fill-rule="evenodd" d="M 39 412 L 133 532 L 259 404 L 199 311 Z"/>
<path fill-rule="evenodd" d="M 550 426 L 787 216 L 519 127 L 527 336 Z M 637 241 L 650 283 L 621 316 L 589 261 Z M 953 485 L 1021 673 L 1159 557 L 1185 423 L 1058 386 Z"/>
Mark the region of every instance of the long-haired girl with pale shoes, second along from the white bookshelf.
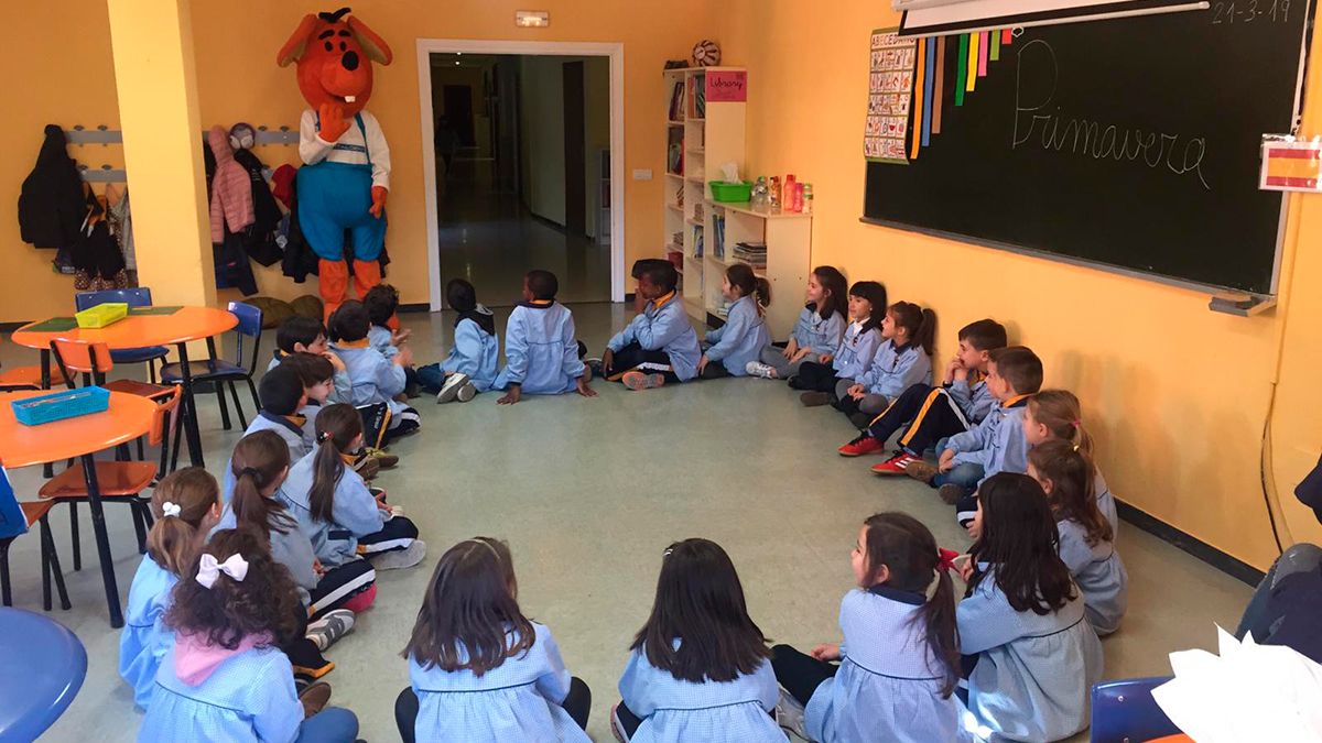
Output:
<path fill-rule="evenodd" d="M 763 346 L 759 361 L 748 362 L 748 374 L 765 379 L 788 379 L 805 361 L 822 362 L 836 353 L 845 332 L 845 275 L 834 266 L 818 266 L 808 276 L 808 304 L 798 313 L 785 348 Z"/>

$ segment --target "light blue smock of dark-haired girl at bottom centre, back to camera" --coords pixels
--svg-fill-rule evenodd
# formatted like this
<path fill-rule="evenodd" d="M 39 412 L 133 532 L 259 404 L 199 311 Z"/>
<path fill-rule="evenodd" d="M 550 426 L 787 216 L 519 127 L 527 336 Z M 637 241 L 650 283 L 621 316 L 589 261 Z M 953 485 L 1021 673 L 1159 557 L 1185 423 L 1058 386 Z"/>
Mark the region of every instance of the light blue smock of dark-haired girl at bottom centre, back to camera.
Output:
<path fill-rule="evenodd" d="M 785 742 L 771 717 L 780 689 L 769 660 L 734 681 L 694 684 L 657 669 L 640 648 L 620 677 L 620 697 L 642 719 L 629 743 Z"/>

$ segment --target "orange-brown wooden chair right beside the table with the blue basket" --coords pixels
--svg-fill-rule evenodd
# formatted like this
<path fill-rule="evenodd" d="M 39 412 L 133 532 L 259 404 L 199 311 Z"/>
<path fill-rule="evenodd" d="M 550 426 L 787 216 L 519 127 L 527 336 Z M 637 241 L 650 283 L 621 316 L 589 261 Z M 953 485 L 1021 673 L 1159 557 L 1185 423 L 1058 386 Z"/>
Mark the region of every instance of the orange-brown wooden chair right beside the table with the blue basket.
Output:
<path fill-rule="evenodd" d="M 156 407 L 148 443 L 160 444 L 159 464 L 151 461 L 97 461 L 97 488 L 102 502 L 126 502 L 132 509 L 134 531 L 137 534 L 137 553 L 147 551 L 147 530 L 152 528 L 151 502 L 141 492 L 164 477 L 178 461 L 178 403 L 182 399 L 180 387 L 169 387 L 172 395 Z M 167 461 L 171 439 L 175 439 L 173 461 Z M 74 550 L 74 570 L 82 570 L 82 546 L 78 538 L 78 504 L 87 501 L 87 483 L 82 467 L 69 467 L 48 480 L 37 490 L 37 497 L 45 501 L 69 504 L 69 537 Z"/>

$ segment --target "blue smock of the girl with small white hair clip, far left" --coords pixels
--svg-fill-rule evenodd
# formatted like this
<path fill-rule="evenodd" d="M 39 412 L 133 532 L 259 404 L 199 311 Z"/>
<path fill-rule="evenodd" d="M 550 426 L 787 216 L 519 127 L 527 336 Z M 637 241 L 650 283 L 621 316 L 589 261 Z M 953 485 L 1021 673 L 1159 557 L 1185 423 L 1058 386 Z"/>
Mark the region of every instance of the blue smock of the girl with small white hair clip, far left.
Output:
<path fill-rule="evenodd" d="M 173 643 L 175 633 L 161 624 L 178 576 L 144 557 L 124 606 L 124 629 L 119 633 L 119 676 L 134 687 L 134 703 L 147 709 L 156 687 L 156 669 Z"/>

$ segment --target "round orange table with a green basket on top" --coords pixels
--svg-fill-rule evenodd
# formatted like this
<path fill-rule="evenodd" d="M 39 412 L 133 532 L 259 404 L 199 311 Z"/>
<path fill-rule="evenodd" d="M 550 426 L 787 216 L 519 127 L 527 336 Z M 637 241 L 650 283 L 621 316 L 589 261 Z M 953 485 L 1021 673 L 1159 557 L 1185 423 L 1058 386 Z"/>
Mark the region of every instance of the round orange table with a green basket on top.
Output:
<path fill-rule="evenodd" d="M 44 321 L 42 321 L 44 323 Z M 13 332 L 13 342 L 41 352 L 41 381 L 50 387 L 50 341 L 81 340 L 103 342 L 110 350 L 124 350 L 151 345 L 173 345 L 178 349 L 180 374 L 184 387 L 184 434 L 188 438 L 189 460 L 204 467 L 202 436 L 197 430 L 197 409 L 193 403 L 193 375 L 188 364 L 188 342 L 206 340 L 215 358 L 214 337 L 238 325 L 238 317 L 215 307 L 181 307 L 171 315 L 130 315 L 106 328 L 71 328 L 69 331 L 33 331 L 41 323 L 29 323 Z"/>

